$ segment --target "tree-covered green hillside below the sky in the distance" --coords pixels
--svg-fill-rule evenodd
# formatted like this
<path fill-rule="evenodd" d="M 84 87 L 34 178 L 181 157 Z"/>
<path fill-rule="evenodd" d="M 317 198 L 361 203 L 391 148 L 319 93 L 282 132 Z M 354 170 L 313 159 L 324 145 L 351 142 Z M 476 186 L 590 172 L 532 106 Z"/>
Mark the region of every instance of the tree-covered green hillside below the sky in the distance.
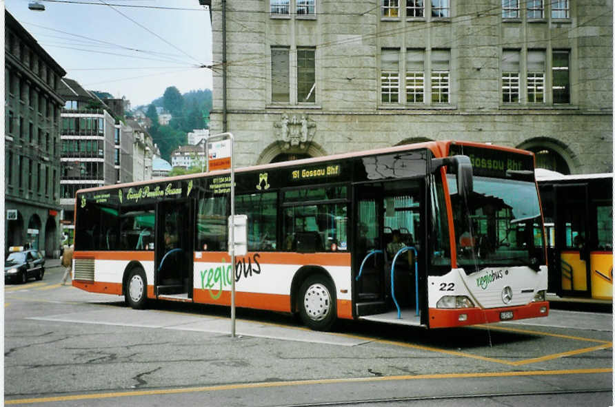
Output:
<path fill-rule="evenodd" d="M 168 125 L 159 125 L 156 107 L 163 107 L 172 115 Z M 154 99 L 145 109 L 145 116 L 152 121 L 148 130 L 154 143 L 160 149 L 162 158 L 170 162 L 170 156 L 179 145 L 187 143 L 186 135 L 194 129 L 208 127 L 210 111 L 212 109 L 212 91 L 191 90 L 181 94 L 177 87 L 167 87 L 163 96 Z"/>

